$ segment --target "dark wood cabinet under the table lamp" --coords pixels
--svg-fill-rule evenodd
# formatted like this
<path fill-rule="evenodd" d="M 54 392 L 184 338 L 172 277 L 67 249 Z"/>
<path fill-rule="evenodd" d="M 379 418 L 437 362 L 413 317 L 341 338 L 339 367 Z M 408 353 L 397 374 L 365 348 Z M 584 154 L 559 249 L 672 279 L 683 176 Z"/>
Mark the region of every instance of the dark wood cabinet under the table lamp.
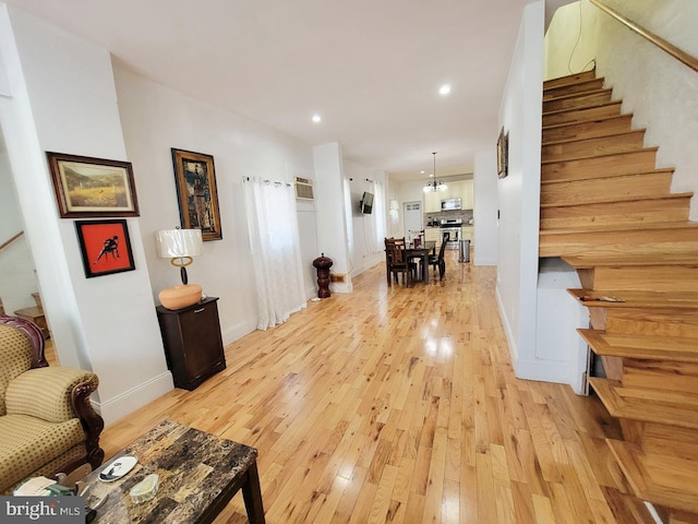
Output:
<path fill-rule="evenodd" d="M 207 297 L 177 310 L 157 307 L 167 367 L 177 388 L 194 390 L 212 374 L 226 369 L 217 300 L 217 297 Z"/>

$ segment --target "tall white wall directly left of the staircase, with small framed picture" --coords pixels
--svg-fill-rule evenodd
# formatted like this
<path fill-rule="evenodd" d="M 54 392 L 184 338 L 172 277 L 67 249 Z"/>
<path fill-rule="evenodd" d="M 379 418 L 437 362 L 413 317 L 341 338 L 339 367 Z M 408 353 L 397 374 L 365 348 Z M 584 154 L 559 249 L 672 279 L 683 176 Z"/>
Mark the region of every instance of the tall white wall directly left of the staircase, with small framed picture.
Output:
<path fill-rule="evenodd" d="M 509 168 L 498 181 L 496 294 L 514 368 L 524 378 L 533 378 L 540 369 L 535 302 L 543 23 L 544 1 L 528 4 L 500 112 L 501 124 L 509 133 Z"/>

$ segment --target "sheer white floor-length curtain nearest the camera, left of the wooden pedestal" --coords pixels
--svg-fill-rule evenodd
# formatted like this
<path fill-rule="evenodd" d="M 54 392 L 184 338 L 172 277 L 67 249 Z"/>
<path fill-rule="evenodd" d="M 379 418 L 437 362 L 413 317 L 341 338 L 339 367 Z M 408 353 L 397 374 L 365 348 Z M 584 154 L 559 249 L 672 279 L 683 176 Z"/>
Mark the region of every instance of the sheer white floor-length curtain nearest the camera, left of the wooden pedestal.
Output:
<path fill-rule="evenodd" d="M 284 323 L 305 307 L 296 195 L 287 183 L 243 180 L 257 289 L 257 329 Z"/>

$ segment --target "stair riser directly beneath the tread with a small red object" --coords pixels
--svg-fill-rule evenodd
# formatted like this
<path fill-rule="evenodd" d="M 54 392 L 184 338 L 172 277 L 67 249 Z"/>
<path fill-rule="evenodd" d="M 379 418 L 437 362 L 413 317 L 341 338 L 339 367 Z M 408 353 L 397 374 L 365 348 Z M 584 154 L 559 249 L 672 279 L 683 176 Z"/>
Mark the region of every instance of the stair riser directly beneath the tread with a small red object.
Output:
<path fill-rule="evenodd" d="M 605 330 L 631 335 L 652 335 L 698 340 L 698 312 L 681 310 L 607 309 Z"/>

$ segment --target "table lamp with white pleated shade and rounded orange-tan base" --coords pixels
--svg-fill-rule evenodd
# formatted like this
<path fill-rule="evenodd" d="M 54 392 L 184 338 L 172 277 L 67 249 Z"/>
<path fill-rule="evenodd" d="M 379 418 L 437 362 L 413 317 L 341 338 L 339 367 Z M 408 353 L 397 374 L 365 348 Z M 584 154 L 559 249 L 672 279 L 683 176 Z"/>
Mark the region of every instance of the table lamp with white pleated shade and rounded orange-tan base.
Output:
<path fill-rule="evenodd" d="M 201 300 L 201 286 L 189 284 L 186 266 L 198 257 L 204 242 L 201 229 L 165 229 L 156 234 L 157 255 L 170 259 L 170 263 L 180 269 L 182 284 L 163 289 L 158 294 L 160 303 L 167 309 L 181 309 Z"/>

